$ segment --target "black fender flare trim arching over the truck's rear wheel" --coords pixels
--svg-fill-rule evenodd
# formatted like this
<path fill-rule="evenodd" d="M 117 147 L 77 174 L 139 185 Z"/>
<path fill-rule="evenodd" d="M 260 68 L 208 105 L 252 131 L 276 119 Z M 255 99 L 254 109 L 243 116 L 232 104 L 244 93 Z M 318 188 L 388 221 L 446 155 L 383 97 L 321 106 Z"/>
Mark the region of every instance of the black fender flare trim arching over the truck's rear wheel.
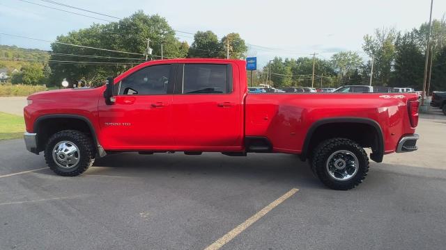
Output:
<path fill-rule="evenodd" d="M 367 124 L 372 126 L 375 129 L 376 135 L 378 135 L 378 143 L 376 145 L 376 150 L 370 154 L 371 160 L 374 160 L 376 163 L 381 163 L 384 157 L 384 137 L 383 130 L 381 126 L 373 119 L 369 118 L 360 118 L 360 117 L 334 117 L 334 118 L 324 118 L 320 119 L 312 124 L 309 128 L 307 135 L 305 137 L 305 141 L 302 147 L 302 153 L 300 154 L 300 158 L 302 160 L 306 160 L 309 154 L 309 143 L 312 140 L 312 136 L 314 131 L 319 126 L 325 124 L 337 124 L 337 123 L 350 123 L 350 124 Z"/>

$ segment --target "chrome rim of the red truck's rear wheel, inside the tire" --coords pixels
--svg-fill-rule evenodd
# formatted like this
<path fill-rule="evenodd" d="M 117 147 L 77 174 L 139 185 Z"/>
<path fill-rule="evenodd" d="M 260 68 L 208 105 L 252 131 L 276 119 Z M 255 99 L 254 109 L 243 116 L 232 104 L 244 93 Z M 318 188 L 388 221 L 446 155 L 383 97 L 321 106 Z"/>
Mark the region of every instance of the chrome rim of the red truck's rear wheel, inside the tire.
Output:
<path fill-rule="evenodd" d="M 359 161 L 354 153 L 347 150 L 338 150 L 328 156 L 327 172 L 337 181 L 348 181 L 356 175 Z"/>

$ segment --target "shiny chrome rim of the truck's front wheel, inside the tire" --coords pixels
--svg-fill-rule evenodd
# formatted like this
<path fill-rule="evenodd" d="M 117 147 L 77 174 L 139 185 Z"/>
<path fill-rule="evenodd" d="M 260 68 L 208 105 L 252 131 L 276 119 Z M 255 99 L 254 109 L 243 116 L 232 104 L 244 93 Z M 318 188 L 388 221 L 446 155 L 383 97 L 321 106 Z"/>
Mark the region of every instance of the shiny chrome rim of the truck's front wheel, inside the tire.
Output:
<path fill-rule="evenodd" d="M 76 144 L 69 141 L 61 141 L 54 145 L 53 160 L 65 169 L 75 167 L 79 163 L 80 152 Z"/>

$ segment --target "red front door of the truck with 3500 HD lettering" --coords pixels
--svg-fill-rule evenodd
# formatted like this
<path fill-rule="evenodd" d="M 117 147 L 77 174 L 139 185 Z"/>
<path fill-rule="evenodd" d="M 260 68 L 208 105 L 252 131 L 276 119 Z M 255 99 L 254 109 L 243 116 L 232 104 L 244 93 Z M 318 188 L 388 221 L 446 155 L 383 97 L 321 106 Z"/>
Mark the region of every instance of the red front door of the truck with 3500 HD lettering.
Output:
<path fill-rule="evenodd" d="M 176 65 L 139 69 L 114 86 L 115 103 L 98 107 L 105 149 L 163 149 L 172 138 L 172 97 Z M 172 77 L 173 76 L 173 77 Z"/>

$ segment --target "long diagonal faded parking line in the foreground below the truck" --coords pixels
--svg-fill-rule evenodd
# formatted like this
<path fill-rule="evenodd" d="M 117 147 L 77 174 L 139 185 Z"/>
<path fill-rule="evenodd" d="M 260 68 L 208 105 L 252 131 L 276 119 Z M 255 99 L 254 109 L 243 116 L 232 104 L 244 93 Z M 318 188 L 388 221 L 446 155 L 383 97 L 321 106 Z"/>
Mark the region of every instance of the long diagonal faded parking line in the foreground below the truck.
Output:
<path fill-rule="evenodd" d="M 284 202 L 286 199 L 291 197 L 295 192 L 298 192 L 299 190 L 297 188 L 293 188 L 286 192 L 284 195 L 279 197 L 279 199 L 272 201 L 268 206 L 257 212 L 255 215 L 252 215 L 249 219 L 245 220 L 242 224 L 238 225 L 236 228 L 233 228 L 229 233 L 226 233 L 223 235 L 222 238 L 218 239 L 213 244 L 210 244 L 209 247 L 206 247 L 204 250 L 217 250 L 220 249 L 220 247 L 223 247 L 224 244 L 231 241 L 233 238 L 235 238 L 238 234 L 242 233 L 246 228 L 251 226 L 254 222 L 258 221 L 261 217 L 266 215 L 272 208 L 277 207 L 280 203 Z"/>

